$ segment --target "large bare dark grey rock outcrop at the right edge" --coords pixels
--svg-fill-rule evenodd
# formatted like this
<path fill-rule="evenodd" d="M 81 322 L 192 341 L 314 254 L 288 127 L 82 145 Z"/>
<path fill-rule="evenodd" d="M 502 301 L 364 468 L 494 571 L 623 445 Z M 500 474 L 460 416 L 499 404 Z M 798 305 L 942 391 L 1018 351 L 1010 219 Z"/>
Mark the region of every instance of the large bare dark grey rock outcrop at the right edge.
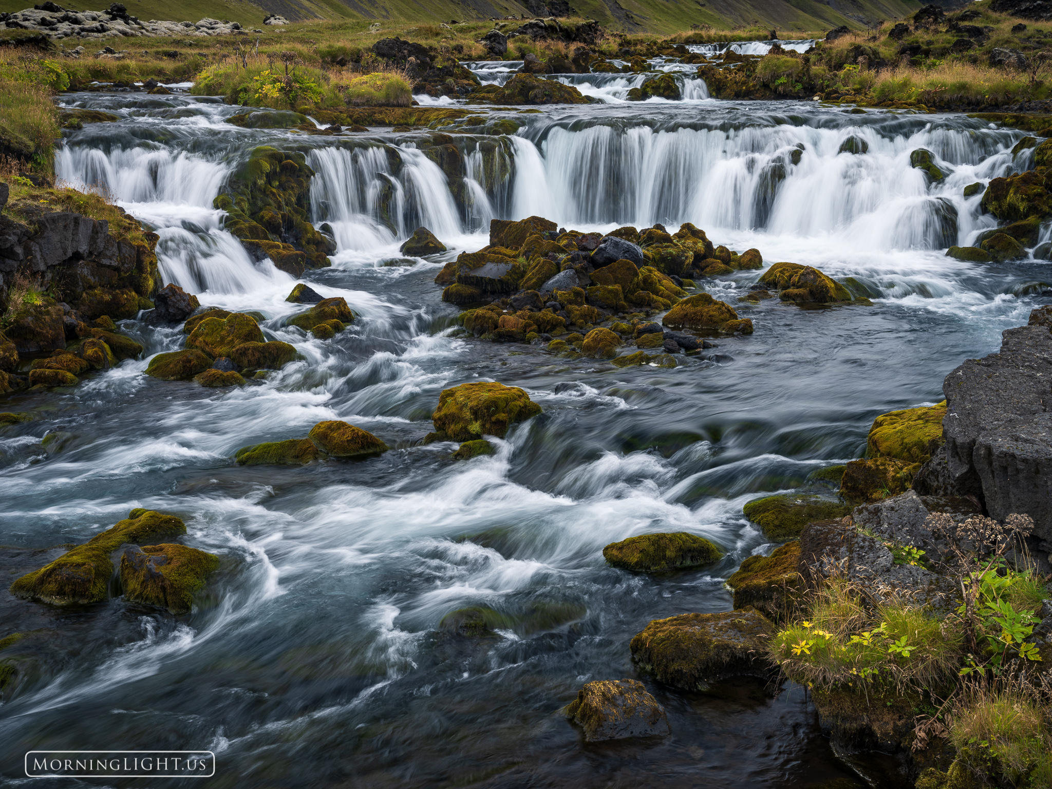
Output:
<path fill-rule="evenodd" d="M 977 494 L 997 520 L 1025 512 L 1052 543 L 1052 307 L 1005 331 L 999 352 L 954 369 L 943 391 L 946 446 L 915 487 Z"/>

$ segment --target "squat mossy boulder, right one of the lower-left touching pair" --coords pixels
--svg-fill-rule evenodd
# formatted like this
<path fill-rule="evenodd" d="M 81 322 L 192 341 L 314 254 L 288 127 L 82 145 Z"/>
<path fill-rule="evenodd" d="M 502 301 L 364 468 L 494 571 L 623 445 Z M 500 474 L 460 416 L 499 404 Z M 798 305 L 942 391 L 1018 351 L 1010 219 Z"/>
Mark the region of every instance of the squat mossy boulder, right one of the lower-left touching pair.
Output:
<path fill-rule="evenodd" d="M 121 557 L 121 587 L 133 603 L 189 613 L 194 592 L 218 568 L 219 557 L 185 545 L 129 547 Z"/>

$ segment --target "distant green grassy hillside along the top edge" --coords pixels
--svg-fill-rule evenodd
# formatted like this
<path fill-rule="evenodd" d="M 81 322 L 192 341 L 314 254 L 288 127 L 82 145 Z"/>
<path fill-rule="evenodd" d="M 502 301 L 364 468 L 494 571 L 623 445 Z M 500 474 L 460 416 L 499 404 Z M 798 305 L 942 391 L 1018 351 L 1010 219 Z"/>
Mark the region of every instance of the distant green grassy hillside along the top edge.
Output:
<path fill-rule="evenodd" d="M 60 3 L 61 4 L 61 3 Z M 78 0 L 76 8 L 103 8 L 103 0 Z M 265 12 L 290 19 L 376 19 L 448 22 L 526 14 L 515 0 L 124 0 L 140 19 L 196 22 L 203 17 L 230 19 L 258 26 Z M 863 19 L 894 19 L 922 5 L 917 0 L 844 0 L 834 9 L 818 0 L 571 0 L 576 16 L 595 19 L 611 29 L 675 33 L 693 24 L 716 28 L 761 24 L 781 31 L 826 31 L 842 24 L 861 26 Z M 27 0 L 0 0 L 0 12 L 32 7 Z"/>

